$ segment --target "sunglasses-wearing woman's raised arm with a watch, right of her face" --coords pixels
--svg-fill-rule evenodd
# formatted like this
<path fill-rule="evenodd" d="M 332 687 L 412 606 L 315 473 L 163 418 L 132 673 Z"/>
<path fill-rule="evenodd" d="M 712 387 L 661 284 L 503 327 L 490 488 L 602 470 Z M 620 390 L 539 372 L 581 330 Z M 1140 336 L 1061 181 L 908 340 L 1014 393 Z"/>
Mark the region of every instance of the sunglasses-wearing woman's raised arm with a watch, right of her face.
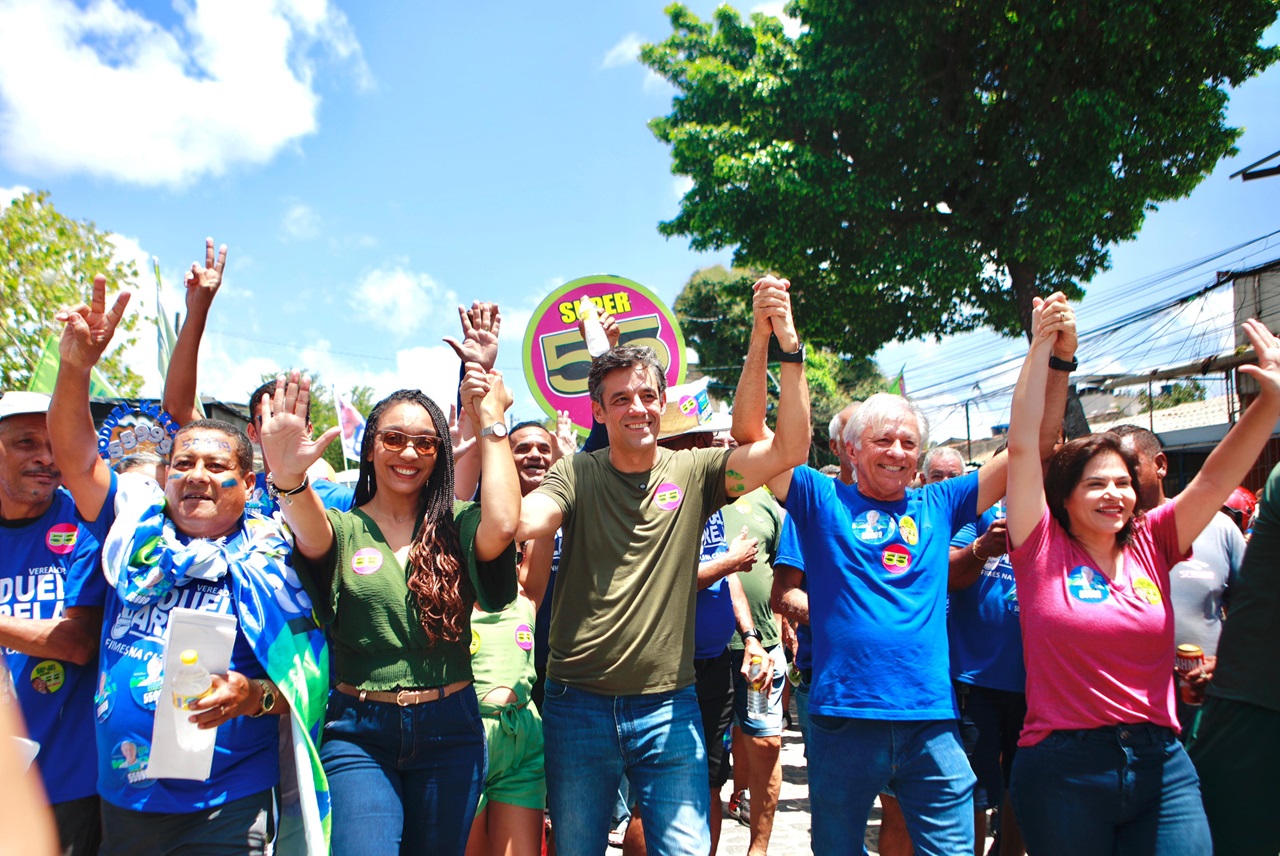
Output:
<path fill-rule="evenodd" d="M 506 424 L 511 407 L 511 390 L 502 372 L 485 372 L 479 363 L 468 362 L 462 380 L 462 407 L 477 432 L 499 422 Z M 476 440 L 484 490 L 480 491 L 480 526 L 476 528 L 476 558 L 489 562 L 502 555 L 516 536 L 520 525 L 520 479 L 511 457 L 507 435 L 489 434 Z"/>

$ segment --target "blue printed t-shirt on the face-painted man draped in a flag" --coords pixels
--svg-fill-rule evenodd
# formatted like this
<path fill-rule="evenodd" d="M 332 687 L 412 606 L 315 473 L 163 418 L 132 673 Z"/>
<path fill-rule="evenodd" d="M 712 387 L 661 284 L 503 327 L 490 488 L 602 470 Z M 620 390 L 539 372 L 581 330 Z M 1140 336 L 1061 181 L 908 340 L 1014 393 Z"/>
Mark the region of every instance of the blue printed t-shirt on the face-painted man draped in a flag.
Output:
<path fill-rule="evenodd" d="M 115 521 L 118 481 L 99 522 Z M 244 537 L 241 532 L 230 536 Z M 186 539 L 183 539 L 186 540 Z M 93 714 L 97 719 L 97 792 L 111 805 L 147 812 L 186 814 L 266 791 L 279 782 L 279 719 L 237 717 L 218 728 L 207 782 L 146 778 L 151 731 L 164 678 L 164 641 L 174 606 L 236 614 L 230 577 L 215 582 L 188 580 L 157 603 L 131 606 L 108 591 L 102 615 L 101 673 Z M 266 670 L 237 628 L 230 669 L 248 678 Z M 163 706 L 170 715 L 172 705 Z"/>

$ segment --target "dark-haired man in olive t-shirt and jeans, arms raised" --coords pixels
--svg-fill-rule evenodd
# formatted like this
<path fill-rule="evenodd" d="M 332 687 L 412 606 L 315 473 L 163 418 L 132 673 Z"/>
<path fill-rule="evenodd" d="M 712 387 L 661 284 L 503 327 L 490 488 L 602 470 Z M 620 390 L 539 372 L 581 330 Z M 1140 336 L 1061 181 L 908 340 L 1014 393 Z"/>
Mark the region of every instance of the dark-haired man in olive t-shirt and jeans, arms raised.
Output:
<path fill-rule="evenodd" d="M 694 692 L 694 596 L 707 518 L 809 453 L 804 351 L 788 283 L 754 287 L 753 337 L 782 351 L 777 432 L 726 449 L 658 447 L 667 383 L 649 348 L 591 363 L 608 449 L 552 467 L 525 496 L 517 539 L 562 530 L 543 722 L 561 856 L 599 852 L 623 774 L 654 856 L 707 853 L 707 755 Z"/>

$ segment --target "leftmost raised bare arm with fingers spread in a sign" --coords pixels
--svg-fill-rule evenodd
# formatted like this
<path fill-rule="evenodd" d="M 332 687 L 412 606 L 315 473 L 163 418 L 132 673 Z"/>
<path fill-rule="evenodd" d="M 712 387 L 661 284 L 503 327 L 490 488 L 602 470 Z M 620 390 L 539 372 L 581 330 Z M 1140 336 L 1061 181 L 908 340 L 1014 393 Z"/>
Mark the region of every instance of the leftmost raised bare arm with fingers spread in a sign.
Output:
<path fill-rule="evenodd" d="M 49 404 L 49 440 L 54 463 L 63 472 L 63 485 L 72 491 L 76 509 L 87 521 L 97 519 L 111 489 L 111 468 L 97 454 L 88 375 L 111 343 L 128 305 L 129 293 L 120 292 L 111 308 L 106 308 L 106 276 L 99 274 L 88 306 L 81 303 L 55 316 L 65 326 L 58 343 L 61 362 Z"/>

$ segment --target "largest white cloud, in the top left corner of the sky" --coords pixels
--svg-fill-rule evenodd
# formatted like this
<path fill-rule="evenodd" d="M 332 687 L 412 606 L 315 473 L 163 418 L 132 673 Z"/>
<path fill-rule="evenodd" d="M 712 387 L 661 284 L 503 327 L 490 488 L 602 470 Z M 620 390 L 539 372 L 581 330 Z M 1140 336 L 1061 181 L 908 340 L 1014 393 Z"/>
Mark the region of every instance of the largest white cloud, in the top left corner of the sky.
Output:
<path fill-rule="evenodd" d="M 166 29 L 120 0 L 0 0 L 0 156 L 33 175 L 184 186 L 316 131 L 316 54 L 370 84 L 328 0 L 193 0 Z"/>

